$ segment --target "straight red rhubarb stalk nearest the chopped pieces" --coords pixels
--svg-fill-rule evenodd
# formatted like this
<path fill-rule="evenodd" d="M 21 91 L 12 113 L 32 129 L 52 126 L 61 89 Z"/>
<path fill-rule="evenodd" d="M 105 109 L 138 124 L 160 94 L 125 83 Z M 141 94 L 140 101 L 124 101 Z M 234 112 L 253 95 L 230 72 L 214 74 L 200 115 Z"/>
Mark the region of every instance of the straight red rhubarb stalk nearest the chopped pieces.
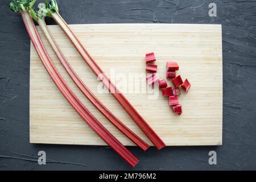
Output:
<path fill-rule="evenodd" d="M 81 42 L 73 31 L 69 28 L 68 24 L 65 20 L 60 16 L 57 3 L 55 0 L 47 2 L 47 7 L 49 9 L 48 16 L 51 16 L 57 24 L 63 29 L 65 34 L 67 34 L 68 38 L 76 47 L 77 51 L 79 51 L 82 58 L 89 65 L 89 67 L 93 70 L 93 72 L 100 78 L 100 80 L 104 83 L 105 86 L 108 87 L 110 92 L 113 94 L 114 98 L 119 102 L 119 104 L 127 111 L 127 113 L 133 118 L 133 120 L 137 123 L 137 125 L 141 128 L 144 134 L 147 135 L 148 139 L 156 146 L 156 148 L 160 149 L 166 146 L 162 139 L 155 133 L 154 130 L 148 125 L 148 123 L 142 118 L 142 116 L 138 113 L 137 110 L 130 104 L 130 102 L 123 96 L 123 94 L 118 90 L 118 88 L 113 84 L 113 82 L 109 79 L 108 76 L 102 71 L 102 69 L 98 66 L 96 61 L 89 55 L 84 46 L 82 46 Z M 113 92 L 115 91 L 115 92 Z"/>

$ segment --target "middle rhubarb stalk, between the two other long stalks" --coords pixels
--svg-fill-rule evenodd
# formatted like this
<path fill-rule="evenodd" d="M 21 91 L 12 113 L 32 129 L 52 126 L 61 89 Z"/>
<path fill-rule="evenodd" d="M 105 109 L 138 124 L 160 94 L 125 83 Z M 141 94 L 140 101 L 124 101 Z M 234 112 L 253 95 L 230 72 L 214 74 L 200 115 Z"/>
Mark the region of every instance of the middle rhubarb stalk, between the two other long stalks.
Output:
<path fill-rule="evenodd" d="M 128 138 L 131 139 L 137 146 L 142 148 L 143 151 L 146 151 L 149 145 L 144 142 L 141 138 L 138 137 L 133 131 L 131 131 L 127 126 L 125 126 L 115 115 L 108 110 L 92 92 L 90 92 L 89 88 L 84 84 L 84 82 L 81 80 L 81 78 L 76 74 L 76 72 L 73 70 L 71 65 L 68 63 L 66 57 L 64 56 L 63 52 L 61 52 L 59 46 L 57 46 L 57 43 L 53 39 L 53 36 L 51 35 L 51 32 L 49 32 L 48 27 L 46 25 L 46 22 L 44 21 L 44 17 L 40 17 L 36 15 L 36 12 L 31 9 L 30 14 L 32 17 L 38 22 L 40 28 L 43 30 L 44 35 L 46 36 L 49 44 L 51 45 L 53 51 L 55 52 L 57 58 L 65 68 L 65 70 L 68 72 L 69 76 L 72 78 L 72 80 L 76 83 L 76 85 L 79 87 L 79 89 L 84 93 L 84 95 L 89 99 L 90 102 L 94 106 L 97 107 L 98 110 L 101 111 L 102 114 L 105 115 L 106 118 L 109 119 L 110 122 L 113 123 L 115 127 L 117 127 L 123 134 L 125 134 Z"/>

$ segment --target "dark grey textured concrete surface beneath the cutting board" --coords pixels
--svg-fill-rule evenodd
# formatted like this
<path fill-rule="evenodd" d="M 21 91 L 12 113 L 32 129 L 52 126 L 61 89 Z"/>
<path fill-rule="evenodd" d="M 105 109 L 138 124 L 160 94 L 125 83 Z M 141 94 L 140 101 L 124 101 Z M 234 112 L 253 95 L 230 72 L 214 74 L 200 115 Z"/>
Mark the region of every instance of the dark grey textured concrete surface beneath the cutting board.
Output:
<path fill-rule="evenodd" d="M 30 39 L 20 16 L 9 10 L 9 2 L 1 0 L 0 5 L 0 170 L 131 169 L 106 146 L 29 143 Z M 223 145 L 166 147 L 160 151 L 151 147 L 146 152 L 137 147 L 129 149 L 141 160 L 134 170 L 256 169 L 256 1 L 213 1 L 217 17 L 208 15 L 212 1 L 58 2 L 69 24 L 222 24 Z M 47 22 L 55 24 L 52 19 Z M 55 161 L 39 166 L 40 150 Z M 217 165 L 208 164 L 211 150 L 217 152 Z"/>

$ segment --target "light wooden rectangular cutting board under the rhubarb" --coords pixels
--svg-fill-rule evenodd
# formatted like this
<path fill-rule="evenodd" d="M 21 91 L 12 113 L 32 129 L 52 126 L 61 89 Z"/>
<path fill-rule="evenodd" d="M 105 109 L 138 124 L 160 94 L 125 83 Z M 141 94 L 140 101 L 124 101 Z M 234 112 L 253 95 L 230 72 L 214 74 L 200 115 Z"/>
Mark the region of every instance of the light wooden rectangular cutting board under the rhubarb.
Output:
<path fill-rule="evenodd" d="M 39 27 L 46 49 L 68 85 L 86 107 L 123 144 L 134 145 L 73 84 Z M 221 25 L 214 24 L 74 24 L 72 30 L 100 67 L 115 80 L 126 98 L 168 146 L 222 144 Z M 69 63 L 90 90 L 125 125 L 150 143 L 82 60 L 58 26 L 49 26 Z M 168 98 L 146 86 L 145 53 L 154 51 L 160 78 L 166 61 L 180 66 L 177 74 L 192 84 L 181 93 L 183 114 L 172 113 Z M 79 117 L 53 84 L 34 47 L 30 53 L 30 142 L 105 145 Z M 135 77 L 135 78 L 134 78 Z M 168 81 L 168 85 L 172 85 Z M 158 96 L 159 94 L 159 96 Z M 158 96 L 158 97 L 157 97 Z M 151 144 L 151 143 L 150 143 Z"/>

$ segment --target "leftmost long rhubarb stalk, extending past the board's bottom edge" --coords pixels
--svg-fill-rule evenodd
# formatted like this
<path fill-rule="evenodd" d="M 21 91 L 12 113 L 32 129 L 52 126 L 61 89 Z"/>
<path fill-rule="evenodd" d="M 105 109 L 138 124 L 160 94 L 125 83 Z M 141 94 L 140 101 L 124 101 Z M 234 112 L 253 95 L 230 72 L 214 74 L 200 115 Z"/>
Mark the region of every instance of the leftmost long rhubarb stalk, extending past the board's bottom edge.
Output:
<path fill-rule="evenodd" d="M 32 2 L 33 3 L 33 2 Z M 29 4 L 28 4 L 29 5 Z M 63 78 L 60 76 L 59 72 L 57 72 L 56 68 L 53 68 L 51 64 L 52 60 L 50 59 L 46 49 L 43 46 L 42 41 L 38 35 L 38 32 L 35 28 L 35 24 L 28 13 L 28 5 L 27 3 L 20 3 L 20 1 L 13 1 L 10 3 L 10 9 L 14 12 L 19 12 L 22 16 L 23 22 L 26 26 L 28 35 L 36 52 L 38 52 L 38 56 L 40 57 L 44 67 L 46 68 L 49 76 L 51 76 L 53 82 L 55 82 L 57 88 L 59 88 L 60 92 L 67 99 L 69 104 L 77 111 L 77 113 L 84 119 L 84 121 L 107 143 L 110 147 L 113 148 L 130 166 L 134 167 L 139 160 L 131 154 L 129 150 L 125 146 L 123 146 L 101 123 L 93 117 L 93 115 L 86 109 L 85 106 L 81 107 L 81 102 L 76 97 L 76 95 L 71 91 L 68 85 L 65 83 Z M 54 66 L 54 65 L 53 65 Z M 77 102 L 79 101 L 79 102 Z"/>

